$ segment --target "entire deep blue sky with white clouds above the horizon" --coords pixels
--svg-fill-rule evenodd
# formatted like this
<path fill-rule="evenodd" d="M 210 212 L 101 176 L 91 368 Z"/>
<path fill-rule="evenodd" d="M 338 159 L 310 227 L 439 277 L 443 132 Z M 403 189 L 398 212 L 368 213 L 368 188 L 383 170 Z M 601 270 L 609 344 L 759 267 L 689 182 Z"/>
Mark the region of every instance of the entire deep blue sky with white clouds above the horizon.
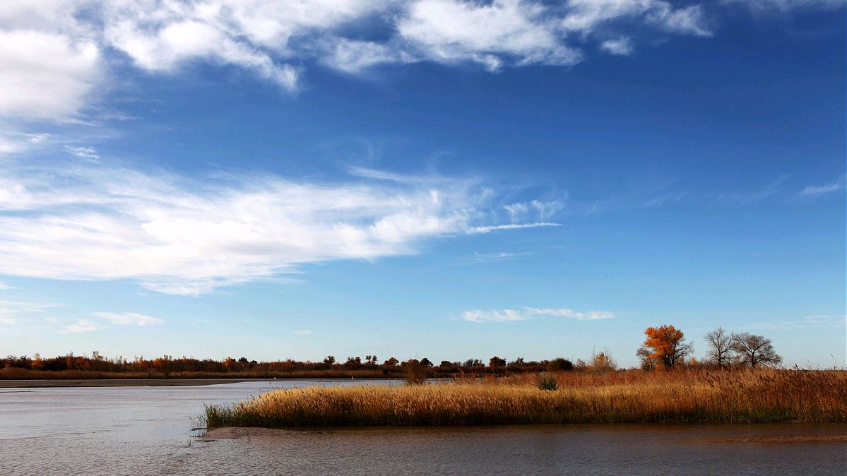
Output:
<path fill-rule="evenodd" d="M 844 10 L 12 2 L 0 353 L 844 366 Z"/>

